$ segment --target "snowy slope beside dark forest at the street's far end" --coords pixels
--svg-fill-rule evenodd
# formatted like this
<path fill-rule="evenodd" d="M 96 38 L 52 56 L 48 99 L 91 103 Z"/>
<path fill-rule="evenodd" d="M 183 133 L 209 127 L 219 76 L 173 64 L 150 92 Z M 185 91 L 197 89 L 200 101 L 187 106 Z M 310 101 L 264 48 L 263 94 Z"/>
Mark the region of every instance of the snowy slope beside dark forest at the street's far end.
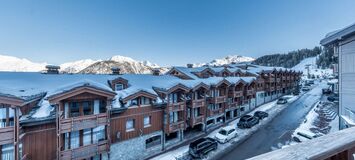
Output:
<path fill-rule="evenodd" d="M 308 73 L 307 66 L 309 68 L 309 74 L 314 76 L 328 76 L 333 73 L 332 69 L 318 69 L 316 61 L 317 61 L 317 56 L 306 58 L 296 66 L 292 67 L 292 69 L 303 72 L 303 78 L 307 78 L 307 73 Z"/>

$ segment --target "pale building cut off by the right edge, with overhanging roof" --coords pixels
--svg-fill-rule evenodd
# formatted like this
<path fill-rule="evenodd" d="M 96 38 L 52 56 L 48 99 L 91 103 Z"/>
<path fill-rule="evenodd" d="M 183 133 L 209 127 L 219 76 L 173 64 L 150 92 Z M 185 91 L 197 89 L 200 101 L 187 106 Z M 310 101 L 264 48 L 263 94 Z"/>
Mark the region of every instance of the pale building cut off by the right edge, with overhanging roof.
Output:
<path fill-rule="evenodd" d="M 334 66 L 339 76 L 339 114 L 340 128 L 355 126 L 355 24 L 331 32 L 320 41 L 325 49 L 333 50 L 339 59 L 339 67 Z M 338 83 L 336 82 L 336 83 Z"/>

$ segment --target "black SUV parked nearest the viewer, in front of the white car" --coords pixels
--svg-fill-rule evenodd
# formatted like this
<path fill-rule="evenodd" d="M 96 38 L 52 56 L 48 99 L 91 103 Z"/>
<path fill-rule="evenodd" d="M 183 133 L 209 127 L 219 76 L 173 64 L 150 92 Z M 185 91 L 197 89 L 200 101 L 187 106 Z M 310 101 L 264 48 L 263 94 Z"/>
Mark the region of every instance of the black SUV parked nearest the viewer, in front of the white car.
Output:
<path fill-rule="evenodd" d="M 213 138 L 200 138 L 190 143 L 189 153 L 194 158 L 202 158 L 208 152 L 217 149 L 217 141 Z"/>

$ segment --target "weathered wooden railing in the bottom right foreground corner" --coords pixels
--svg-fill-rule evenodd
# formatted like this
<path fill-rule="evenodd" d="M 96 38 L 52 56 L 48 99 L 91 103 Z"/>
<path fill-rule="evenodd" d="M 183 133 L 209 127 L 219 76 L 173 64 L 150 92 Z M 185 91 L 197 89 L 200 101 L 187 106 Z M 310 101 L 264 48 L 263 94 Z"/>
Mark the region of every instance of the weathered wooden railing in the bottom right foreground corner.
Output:
<path fill-rule="evenodd" d="M 258 159 L 354 159 L 355 127 L 337 131 L 283 149 L 268 152 L 251 160 Z"/>

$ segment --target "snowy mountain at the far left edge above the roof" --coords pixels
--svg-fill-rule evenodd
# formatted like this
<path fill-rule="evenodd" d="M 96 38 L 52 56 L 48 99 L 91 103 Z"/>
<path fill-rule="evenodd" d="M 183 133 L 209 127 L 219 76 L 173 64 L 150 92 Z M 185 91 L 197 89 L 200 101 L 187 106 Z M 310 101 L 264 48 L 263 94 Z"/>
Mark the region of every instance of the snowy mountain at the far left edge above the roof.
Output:
<path fill-rule="evenodd" d="M 0 55 L 0 71 L 38 72 L 44 70 L 47 63 L 35 63 L 24 58 Z"/>

